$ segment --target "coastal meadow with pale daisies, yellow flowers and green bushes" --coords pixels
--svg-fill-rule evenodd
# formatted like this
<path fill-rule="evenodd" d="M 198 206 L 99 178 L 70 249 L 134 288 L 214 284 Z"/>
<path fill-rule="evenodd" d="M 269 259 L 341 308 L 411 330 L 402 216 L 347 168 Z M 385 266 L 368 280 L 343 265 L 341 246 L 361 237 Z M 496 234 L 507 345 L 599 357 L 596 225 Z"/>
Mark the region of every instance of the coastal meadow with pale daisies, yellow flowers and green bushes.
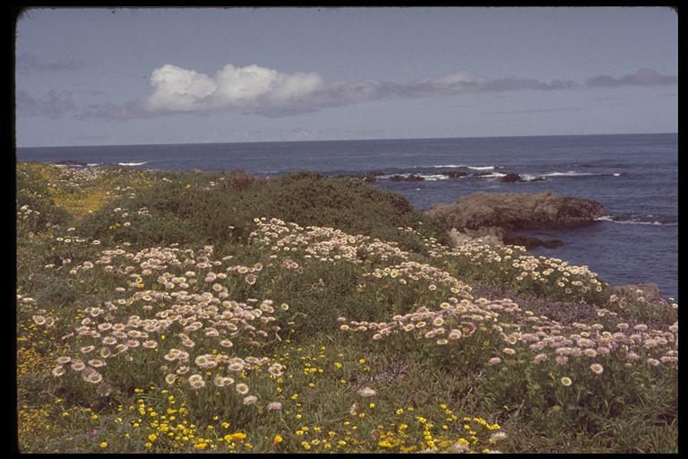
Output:
<path fill-rule="evenodd" d="M 677 305 L 356 178 L 20 162 L 16 221 L 22 452 L 677 451 Z"/>

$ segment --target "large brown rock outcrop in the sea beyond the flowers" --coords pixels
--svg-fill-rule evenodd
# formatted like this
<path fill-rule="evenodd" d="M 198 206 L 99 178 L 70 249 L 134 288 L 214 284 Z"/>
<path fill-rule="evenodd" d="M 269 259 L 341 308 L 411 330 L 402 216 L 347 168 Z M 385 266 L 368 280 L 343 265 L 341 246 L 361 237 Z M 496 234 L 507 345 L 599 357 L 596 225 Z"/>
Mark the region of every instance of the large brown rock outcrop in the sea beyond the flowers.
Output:
<path fill-rule="evenodd" d="M 558 229 L 581 225 L 606 215 L 602 204 L 552 193 L 485 193 L 463 196 L 454 204 L 433 204 L 426 212 L 446 230 Z"/>

